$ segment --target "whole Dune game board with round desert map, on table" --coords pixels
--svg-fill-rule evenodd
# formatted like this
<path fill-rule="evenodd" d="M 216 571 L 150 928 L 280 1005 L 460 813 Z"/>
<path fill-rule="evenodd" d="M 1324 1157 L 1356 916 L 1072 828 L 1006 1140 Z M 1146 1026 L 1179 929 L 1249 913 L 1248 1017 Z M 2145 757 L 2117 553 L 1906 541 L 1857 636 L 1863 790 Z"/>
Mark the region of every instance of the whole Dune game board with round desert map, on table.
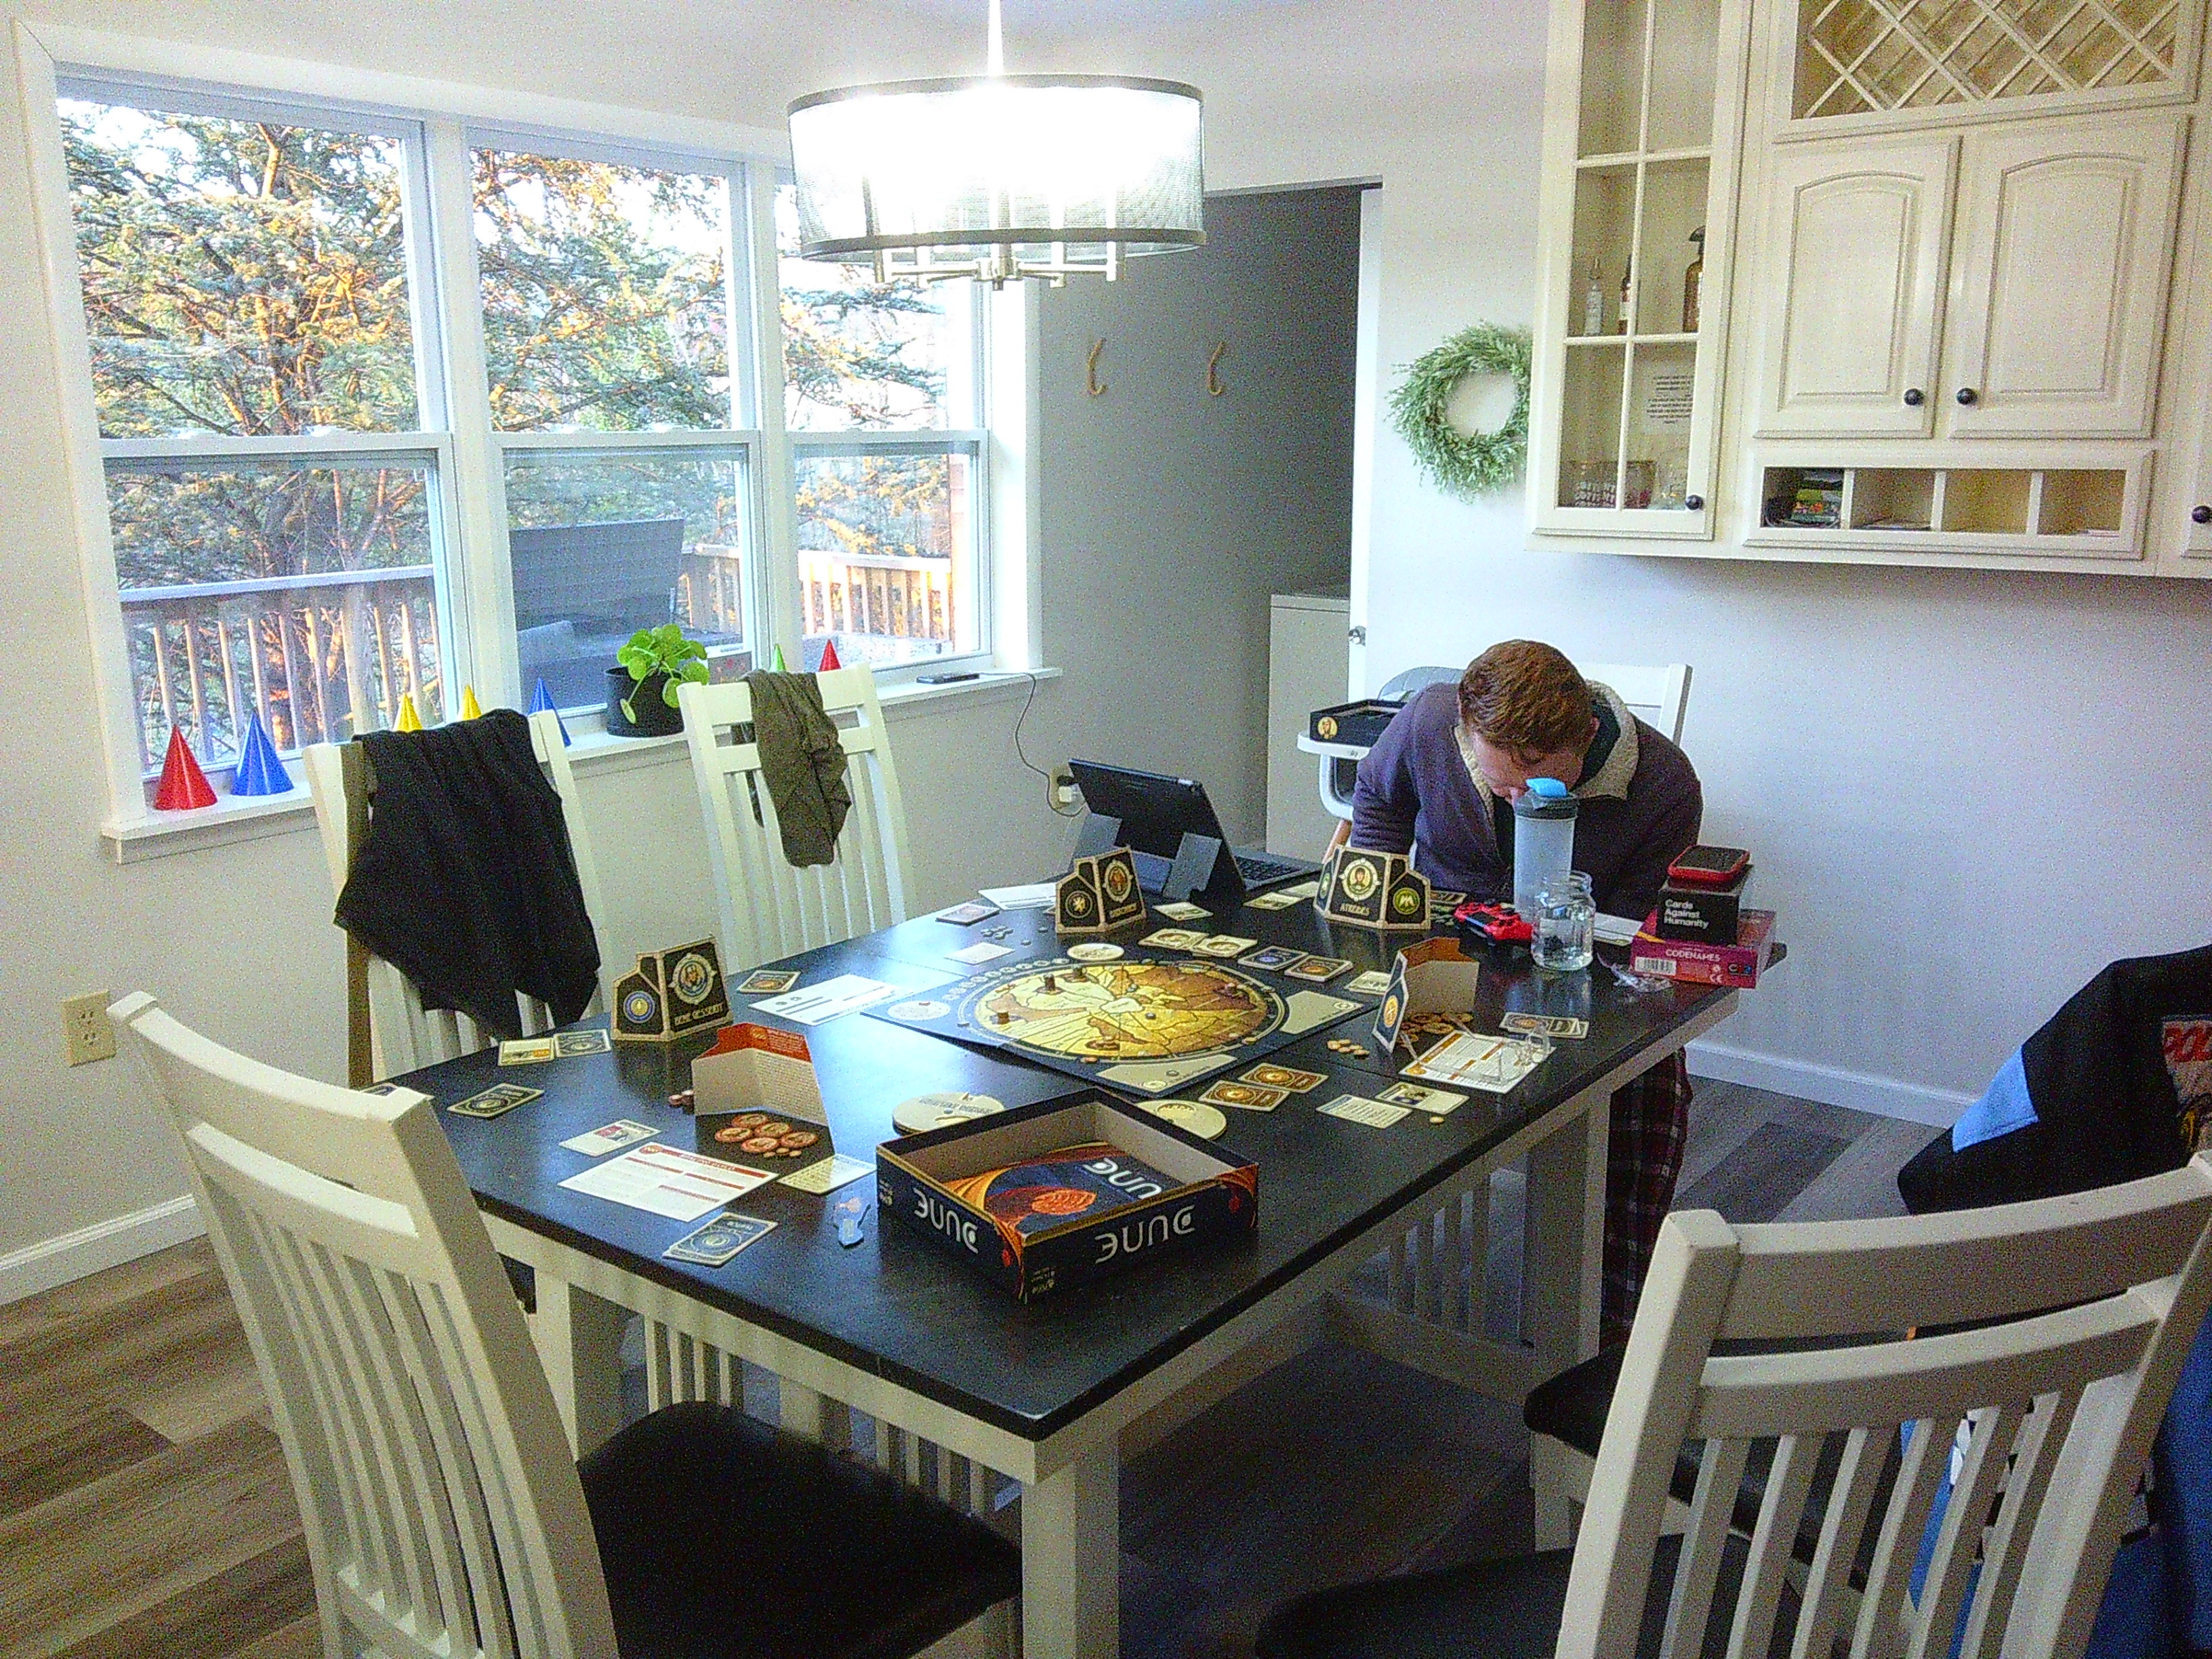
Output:
<path fill-rule="evenodd" d="M 1011 1048 L 1139 1095 L 1166 1095 L 1360 1011 L 1321 991 L 1285 998 L 1223 962 L 1139 951 L 1108 962 L 1015 962 L 872 1009 L 891 1024 Z"/>

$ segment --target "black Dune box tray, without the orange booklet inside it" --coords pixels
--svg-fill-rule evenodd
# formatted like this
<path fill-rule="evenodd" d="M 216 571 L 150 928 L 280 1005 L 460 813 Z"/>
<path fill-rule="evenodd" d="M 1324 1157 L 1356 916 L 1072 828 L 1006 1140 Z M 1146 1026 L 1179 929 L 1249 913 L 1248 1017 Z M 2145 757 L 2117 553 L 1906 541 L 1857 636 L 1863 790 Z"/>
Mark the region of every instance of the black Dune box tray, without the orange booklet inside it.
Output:
<path fill-rule="evenodd" d="M 1175 1186 L 1133 1183 L 1130 1203 L 1026 1234 L 953 1192 L 962 1177 L 1091 1141 L 1119 1148 Z M 885 1141 L 876 1148 L 876 1199 L 900 1225 L 1031 1303 L 1168 1254 L 1250 1239 L 1259 1225 L 1259 1166 L 1150 1113 L 1079 1095 Z"/>

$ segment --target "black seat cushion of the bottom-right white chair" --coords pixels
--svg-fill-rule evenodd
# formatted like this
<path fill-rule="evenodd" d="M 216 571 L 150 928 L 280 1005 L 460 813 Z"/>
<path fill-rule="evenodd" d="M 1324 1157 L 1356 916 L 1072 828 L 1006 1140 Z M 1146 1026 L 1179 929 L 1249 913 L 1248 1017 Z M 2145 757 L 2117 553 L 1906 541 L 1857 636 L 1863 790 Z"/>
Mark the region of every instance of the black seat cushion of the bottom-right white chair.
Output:
<path fill-rule="evenodd" d="M 1679 1555 L 1679 1537 L 1659 1540 L 1637 1641 L 1641 1659 L 1659 1652 Z M 1703 1659 L 1728 1652 L 1745 1555 L 1745 1542 L 1730 1535 L 1721 1551 Z M 1254 1648 L 1259 1659 L 1551 1659 L 1573 1564 L 1573 1551 L 1546 1551 L 1316 1590 L 1270 1613 Z M 1794 1628 L 1796 1597 L 1785 1590 L 1767 1652 L 1790 1652 Z"/>

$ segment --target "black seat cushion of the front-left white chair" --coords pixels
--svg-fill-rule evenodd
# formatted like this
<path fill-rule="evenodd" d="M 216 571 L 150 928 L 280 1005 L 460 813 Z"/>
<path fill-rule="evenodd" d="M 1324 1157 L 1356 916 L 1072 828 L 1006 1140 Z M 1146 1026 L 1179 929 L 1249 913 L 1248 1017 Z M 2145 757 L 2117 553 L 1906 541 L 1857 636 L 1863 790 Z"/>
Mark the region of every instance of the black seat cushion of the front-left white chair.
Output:
<path fill-rule="evenodd" d="M 622 1659 L 907 1659 L 1018 1595 L 982 1522 L 719 1405 L 577 1464 Z"/>

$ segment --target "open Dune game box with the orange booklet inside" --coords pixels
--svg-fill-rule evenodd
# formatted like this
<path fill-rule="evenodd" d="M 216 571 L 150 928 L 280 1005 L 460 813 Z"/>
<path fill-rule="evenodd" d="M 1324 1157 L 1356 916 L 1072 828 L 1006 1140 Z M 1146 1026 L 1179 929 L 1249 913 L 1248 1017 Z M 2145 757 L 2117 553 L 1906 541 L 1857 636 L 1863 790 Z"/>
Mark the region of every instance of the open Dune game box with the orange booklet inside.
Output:
<path fill-rule="evenodd" d="M 1029 1303 L 1252 1237 L 1259 1166 L 1082 1095 L 885 1141 L 876 1197 L 900 1225 Z"/>

